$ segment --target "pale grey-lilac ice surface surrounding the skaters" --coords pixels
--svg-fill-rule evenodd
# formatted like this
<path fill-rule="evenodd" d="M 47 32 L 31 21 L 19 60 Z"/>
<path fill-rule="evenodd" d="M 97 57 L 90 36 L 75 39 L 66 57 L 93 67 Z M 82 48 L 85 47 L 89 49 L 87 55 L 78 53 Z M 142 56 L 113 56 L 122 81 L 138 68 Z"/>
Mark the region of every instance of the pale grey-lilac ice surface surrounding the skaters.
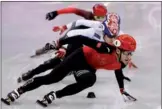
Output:
<path fill-rule="evenodd" d="M 80 19 L 73 14 L 60 15 L 46 21 L 45 14 L 52 10 L 74 6 L 91 10 L 97 2 L 2 2 L 2 96 L 20 86 L 17 77 L 52 54 L 31 59 L 35 49 L 59 37 L 52 32 L 55 25 Z M 135 37 L 138 43 L 133 62 L 138 69 L 125 69 L 132 79 L 125 82 L 126 90 L 138 101 L 124 103 L 112 71 L 99 70 L 96 84 L 71 97 L 56 100 L 48 109 L 161 109 L 161 3 L 160 2 L 106 2 L 110 12 L 121 16 L 121 30 Z M 49 71 L 48 71 L 49 72 Z M 46 73 L 48 73 L 46 72 Z M 73 83 L 73 76 L 49 86 L 42 86 L 20 97 L 13 105 L 2 104 L 2 109 L 43 109 L 35 101 L 51 90 L 58 90 Z M 96 99 L 87 99 L 88 91 Z"/>

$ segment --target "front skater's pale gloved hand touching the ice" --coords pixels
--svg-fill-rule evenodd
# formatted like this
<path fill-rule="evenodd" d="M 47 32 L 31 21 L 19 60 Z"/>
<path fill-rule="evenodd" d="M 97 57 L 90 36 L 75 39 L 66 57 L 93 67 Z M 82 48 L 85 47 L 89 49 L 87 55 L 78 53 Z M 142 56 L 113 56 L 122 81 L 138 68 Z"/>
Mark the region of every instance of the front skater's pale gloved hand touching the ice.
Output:
<path fill-rule="evenodd" d="M 127 93 L 126 91 L 124 91 L 123 88 L 120 89 L 120 93 L 122 94 L 124 101 L 137 101 L 136 98 L 134 98 L 133 96 L 131 96 L 129 93 Z"/>

